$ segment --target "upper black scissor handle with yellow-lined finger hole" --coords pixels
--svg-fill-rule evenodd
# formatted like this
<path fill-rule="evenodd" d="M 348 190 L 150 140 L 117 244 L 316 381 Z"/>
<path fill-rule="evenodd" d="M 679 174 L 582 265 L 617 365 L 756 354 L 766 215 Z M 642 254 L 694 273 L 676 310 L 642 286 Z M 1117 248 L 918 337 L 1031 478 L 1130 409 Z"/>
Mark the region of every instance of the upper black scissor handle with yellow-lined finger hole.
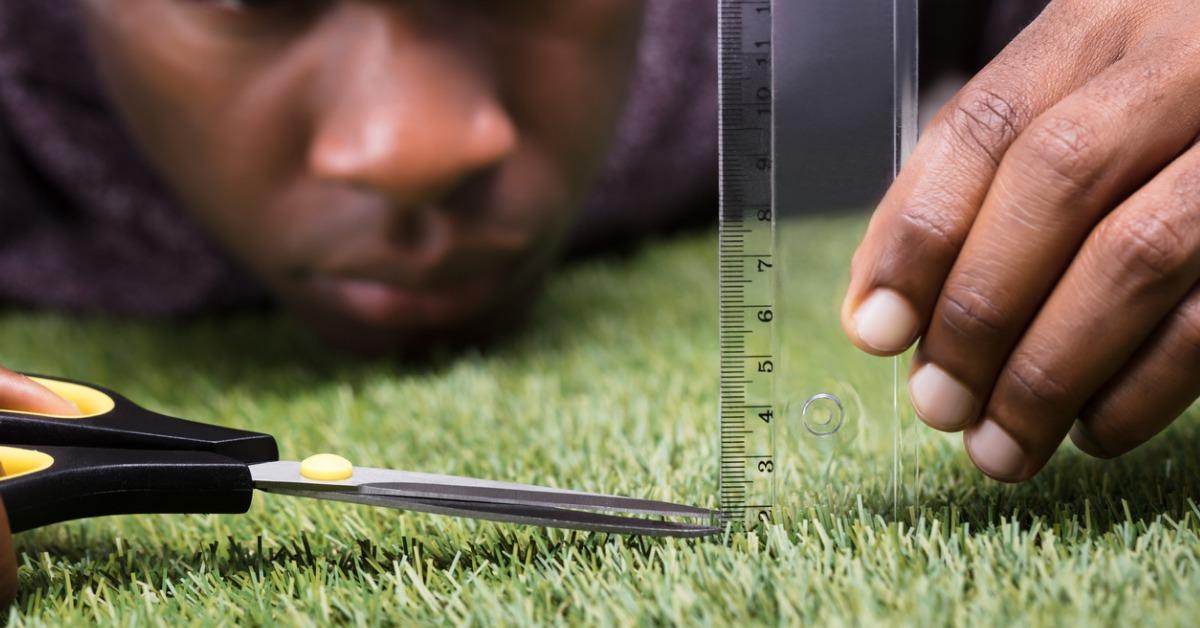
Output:
<path fill-rule="evenodd" d="M 124 396 L 97 385 L 58 377 L 30 376 L 35 381 L 62 383 L 55 391 L 83 408 L 84 417 L 47 417 L 0 409 L 0 443 L 29 445 L 95 447 L 162 451 L 210 451 L 246 465 L 278 460 L 275 438 L 266 433 L 234 430 L 178 419 L 148 411 Z M 101 396 L 97 396 L 96 394 Z M 106 403 L 104 400 L 110 403 Z M 11 510 L 10 510 L 11 513 Z"/>

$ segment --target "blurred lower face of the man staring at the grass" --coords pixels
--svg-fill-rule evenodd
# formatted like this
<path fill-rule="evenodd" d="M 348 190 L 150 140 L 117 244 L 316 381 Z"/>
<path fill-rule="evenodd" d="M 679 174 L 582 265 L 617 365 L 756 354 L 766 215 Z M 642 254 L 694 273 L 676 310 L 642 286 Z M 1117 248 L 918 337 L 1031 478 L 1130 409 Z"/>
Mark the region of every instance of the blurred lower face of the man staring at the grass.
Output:
<path fill-rule="evenodd" d="M 640 0 L 84 0 L 185 205 L 335 342 L 520 307 L 602 163 Z"/>

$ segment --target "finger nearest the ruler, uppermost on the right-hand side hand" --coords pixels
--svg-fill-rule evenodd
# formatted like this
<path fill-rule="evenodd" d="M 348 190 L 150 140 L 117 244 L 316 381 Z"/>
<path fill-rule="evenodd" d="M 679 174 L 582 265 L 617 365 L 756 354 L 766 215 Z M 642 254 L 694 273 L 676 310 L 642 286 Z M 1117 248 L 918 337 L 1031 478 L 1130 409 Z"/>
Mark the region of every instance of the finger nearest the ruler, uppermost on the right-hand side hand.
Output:
<path fill-rule="evenodd" d="M 859 348 L 895 354 L 916 340 L 1012 143 L 1118 58 L 1133 28 L 1055 2 L 941 110 L 854 253 L 841 319 Z"/>

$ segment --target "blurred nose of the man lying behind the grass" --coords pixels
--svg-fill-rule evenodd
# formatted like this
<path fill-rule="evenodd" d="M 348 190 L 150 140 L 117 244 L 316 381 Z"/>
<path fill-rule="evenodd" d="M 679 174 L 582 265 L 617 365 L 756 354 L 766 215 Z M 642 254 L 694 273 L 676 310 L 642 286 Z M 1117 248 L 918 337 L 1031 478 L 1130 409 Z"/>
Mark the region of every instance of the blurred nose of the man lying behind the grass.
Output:
<path fill-rule="evenodd" d="M 412 208 L 514 152 L 515 124 L 478 64 L 394 10 L 365 11 L 354 41 L 324 62 L 316 175 Z"/>

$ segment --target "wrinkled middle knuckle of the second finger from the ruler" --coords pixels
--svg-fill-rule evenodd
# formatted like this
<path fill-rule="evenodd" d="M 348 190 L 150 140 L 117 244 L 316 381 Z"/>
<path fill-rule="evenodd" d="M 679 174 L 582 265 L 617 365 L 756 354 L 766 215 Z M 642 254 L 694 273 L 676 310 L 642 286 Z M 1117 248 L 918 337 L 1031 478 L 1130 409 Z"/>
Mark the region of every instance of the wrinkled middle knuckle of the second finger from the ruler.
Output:
<path fill-rule="evenodd" d="M 1103 146 L 1092 127 L 1078 119 L 1045 118 L 1032 125 L 1021 140 L 1024 161 L 1054 175 L 1068 189 L 1087 189 L 1103 172 L 1106 160 Z"/>

